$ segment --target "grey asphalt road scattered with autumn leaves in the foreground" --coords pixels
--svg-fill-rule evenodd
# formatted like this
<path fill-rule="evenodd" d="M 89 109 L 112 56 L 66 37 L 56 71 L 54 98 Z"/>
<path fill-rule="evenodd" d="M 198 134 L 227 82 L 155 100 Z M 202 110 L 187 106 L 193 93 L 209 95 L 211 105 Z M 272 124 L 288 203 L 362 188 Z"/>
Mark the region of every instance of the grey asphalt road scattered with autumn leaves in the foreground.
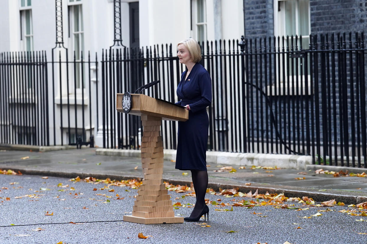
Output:
<path fill-rule="evenodd" d="M 215 211 L 219 207 L 209 205 L 210 220 L 206 223 L 210 227 L 201 227 L 195 222 L 142 225 L 122 221 L 123 215 L 132 211 L 137 189 L 111 186 L 114 192 L 109 192 L 109 189 L 101 190 L 105 186 L 103 183 L 73 183 L 65 178 L 41 177 L 0 174 L 0 243 L 367 243 L 367 234 L 359 234 L 367 233 L 367 222 L 356 221 L 360 218 L 367 221 L 367 217 L 338 212 L 352 209 L 346 206 L 329 207 L 335 211 L 318 212 L 326 207 L 295 211 L 256 206 Z M 69 186 L 58 187 L 59 183 Z M 94 188 L 97 191 L 93 191 Z M 194 197 L 182 198 L 185 193 L 169 193 L 173 203 L 195 203 Z M 117 199 L 116 194 L 123 199 Z M 217 202 L 221 199 L 221 202 L 230 204 L 234 202 L 231 201 L 233 197 L 222 195 L 207 194 L 206 198 Z M 297 202 L 290 203 L 306 208 Z M 224 208 L 230 209 L 229 206 Z M 191 210 L 179 207 L 175 209 L 175 215 L 187 217 Z M 53 215 L 45 215 L 47 211 Z M 254 211 L 262 214 L 254 214 Z M 301 218 L 316 213 L 323 215 Z M 37 228 L 42 230 L 34 231 Z M 230 230 L 235 233 L 227 233 Z M 152 237 L 139 239 L 139 232 Z"/>

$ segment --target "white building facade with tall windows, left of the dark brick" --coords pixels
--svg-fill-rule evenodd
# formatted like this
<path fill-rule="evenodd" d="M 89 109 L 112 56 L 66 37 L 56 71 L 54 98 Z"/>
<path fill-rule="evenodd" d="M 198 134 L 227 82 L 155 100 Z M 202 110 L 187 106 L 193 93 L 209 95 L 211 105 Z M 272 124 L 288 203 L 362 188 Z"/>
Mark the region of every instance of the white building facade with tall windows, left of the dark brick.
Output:
<path fill-rule="evenodd" d="M 175 45 L 182 39 L 237 40 L 244 31 L 242 0 L 3 0 L 0 4 L 0 52 L 25 56 L 44 51 L 47 56 L 50 145 L 75 143 L 83 134 L 83 141 L 94 135 L 95 145 L 103 146 L 104 108 L 96 101 L 102 89 L 102 49 L 172 44 L 175 55 Z M 31 95 L 35 87 L 31 90 L 19 90 L 23 101 L 36 100 Z M 17 95 L 11 95 L 9 106 L 15 114 Z M 38 120 L 29 114 L 29 119 Z M 10 138 L 24 132 L 19 127 L 12 123 Z M 111 136 L 111 129 L 106 133 Z"/>

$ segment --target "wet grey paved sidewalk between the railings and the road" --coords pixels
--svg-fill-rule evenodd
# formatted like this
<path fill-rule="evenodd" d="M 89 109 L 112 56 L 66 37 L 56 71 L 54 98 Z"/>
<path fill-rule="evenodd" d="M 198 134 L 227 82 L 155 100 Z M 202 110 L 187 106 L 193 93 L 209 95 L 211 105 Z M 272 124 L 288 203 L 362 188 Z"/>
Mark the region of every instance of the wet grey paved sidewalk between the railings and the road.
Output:
<path fill-rule="evenodd" d="M 12 169 L 23 174 L 44 176 L 57 176 L 85 178 L 93 176 L 99 179 L 142 179 L 141 159 L 135 154 L 130 157 L 109 156 L 99 154 L 107 153 L 104 149 L 86 148 L 58 151 L 0 151 L 0 169 Z M 96 151 L 99 151 L 98 154 Z M 121 150 L 120 150 L 121 151 Z M 131 150 L 129 150 L 131 151 Z M 116 153 L 115 153 L 116 155 Z M 126 155 L 126 154 L 125 154 Z M 134 156 L 134 157 L 131 157 Z M 138 155 L 139 156 L 139 155 Z M 167 157 L 165 157 L 167 158 Z M 169 158 L 169 157 L 168 157 Z M 230 160 L 226 161 L 230 163 Z M 265 163 L 265 161 L 263 161 Z M 163 179 L 173 184 L 191 183 L 191 175 L 188 172 L 174 169 L 175 162 L 164 162 Z M 357 204 L 367 202 L 367 179 L 364 177 L 333 177 L 333 174 L 316 174 L 317 168 L 339 171 L 339 168 L 331 166 L 305 165 L 303 169 L 252 169 L 244 166 L 239 169 L 238 161 L 235 164 L 217 164 L 208 162 L 208 187 L 215 190 L 226 188 L 239 188 L 242 192 L 256 191 L 259 193 L 284 193 L 288 197 L 309 196 L 315 201 L 335 199 L 345 204 Z M 237 171 L 230 173 L 221 172 L 223 166 L 232 166 Z M 269 166 L 259 165 L 257 166 Z M 137 167 L 137 169 L 135 169 Z M 274 167 L 274 166 L 270 166 Z M 347 168 L 342 167 L 345 171 Z M 349 173 L 362 173 L 365 169 L 348 168 Z M 366 169 L 367 171 L 367 169 Z M 303 174 L 299 174 L 304 172 Z M 305 177 L 305 179 L 303 179 Z M 295 178 L 301 178 L 297 180 Z M 249 184 L 250 183 L 250 184 Z"/>

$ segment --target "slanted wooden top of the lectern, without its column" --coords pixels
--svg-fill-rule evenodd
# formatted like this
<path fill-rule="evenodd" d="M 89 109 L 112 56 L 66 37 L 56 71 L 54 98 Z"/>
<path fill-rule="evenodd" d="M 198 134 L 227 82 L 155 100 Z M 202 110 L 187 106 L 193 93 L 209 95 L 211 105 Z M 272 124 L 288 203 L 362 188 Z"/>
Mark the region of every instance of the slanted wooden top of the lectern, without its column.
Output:
<path fill-rule="evenodd" d="M 116 94 L 116 110 L 123 113 L 123 93 Z M 132 107 L 130 115 L 148 115 L 160 117 L 163 120 L 186 121 L 189 119 L 189 111 L 168 102 L 157 100 L 144 94 L 131 94 Z"/>

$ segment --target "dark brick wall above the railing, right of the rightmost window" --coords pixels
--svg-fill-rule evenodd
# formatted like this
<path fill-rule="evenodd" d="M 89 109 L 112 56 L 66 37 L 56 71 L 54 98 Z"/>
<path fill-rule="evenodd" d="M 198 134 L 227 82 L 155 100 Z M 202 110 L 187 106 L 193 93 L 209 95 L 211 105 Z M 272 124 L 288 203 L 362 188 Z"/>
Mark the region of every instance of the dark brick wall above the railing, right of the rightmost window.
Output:
<path fill-rule="evenodd" d="M 311 33 L 367 30 L 365 0 L 310 0 Z"/>

